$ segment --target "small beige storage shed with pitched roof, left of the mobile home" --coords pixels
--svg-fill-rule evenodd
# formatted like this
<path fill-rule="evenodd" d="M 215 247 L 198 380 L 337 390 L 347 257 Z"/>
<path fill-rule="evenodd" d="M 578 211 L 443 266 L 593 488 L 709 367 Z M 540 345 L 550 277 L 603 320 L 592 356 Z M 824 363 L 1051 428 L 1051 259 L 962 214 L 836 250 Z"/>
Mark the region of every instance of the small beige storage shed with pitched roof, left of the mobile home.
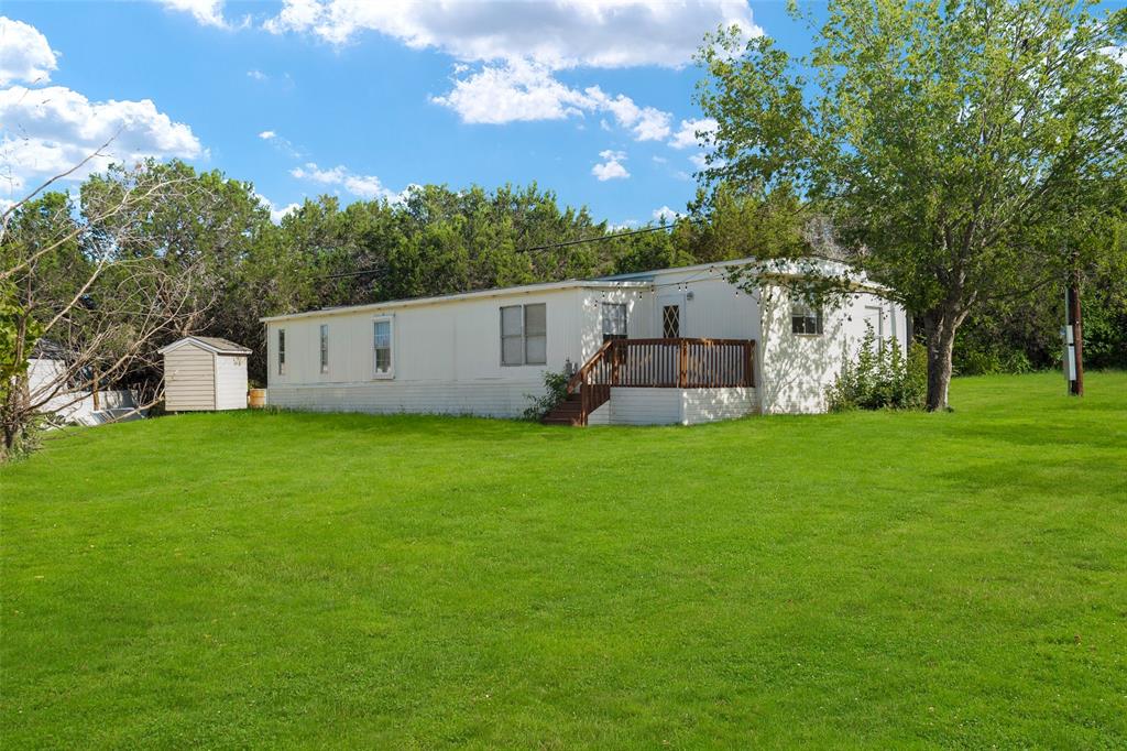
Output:
<path fill-rule="evenodd" d="M 165 355 L 165 409 L 247 408 L 247 347 L 214 336 L 186 336 Z"/>

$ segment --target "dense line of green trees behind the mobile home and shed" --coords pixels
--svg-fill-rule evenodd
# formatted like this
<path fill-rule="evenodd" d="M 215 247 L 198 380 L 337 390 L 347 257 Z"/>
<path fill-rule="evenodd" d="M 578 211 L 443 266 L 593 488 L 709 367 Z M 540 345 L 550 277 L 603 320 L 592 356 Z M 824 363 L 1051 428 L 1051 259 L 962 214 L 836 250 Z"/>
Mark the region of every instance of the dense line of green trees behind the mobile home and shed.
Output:
<path fill-rule="evenodd" d="M 1116 215 L 1121 215 L 1116 214 Z M 1085 350 L 1127 366 L 1127 227 L 1085 268 Z M 636 228 L 635 228 L 636 229 Z M 713 180 L 663 231 L 631 233 L 560 205 L 535 184 L 426 185 L 401 202 L 307 200 L 279 223 L 251 183 L 179 161 L 112 167 L 73 193 L 44 192 L 0 226 L 0 423 L 10 448 L 39 401 L 26 361 L 38 339 L 71 362 L 68 386 L 113 381 L 160 398 L 157 350 L 185 334 L 250 346 L 266 380 L 259 319 L 286 312 L 733 258 L 837 253 L 817 204 L 789 187 Z M 584 242 L 561 245 L 574 240 Z M 594 240 L 594 241 L 587 241 Z M 999 295 L 961 329 L 956 372 L 1059 360 L 1058 284 Z M 922 335 L 922 332 L 917 332 Z M 23 379 L 23 380 L 21 380 Z"/>

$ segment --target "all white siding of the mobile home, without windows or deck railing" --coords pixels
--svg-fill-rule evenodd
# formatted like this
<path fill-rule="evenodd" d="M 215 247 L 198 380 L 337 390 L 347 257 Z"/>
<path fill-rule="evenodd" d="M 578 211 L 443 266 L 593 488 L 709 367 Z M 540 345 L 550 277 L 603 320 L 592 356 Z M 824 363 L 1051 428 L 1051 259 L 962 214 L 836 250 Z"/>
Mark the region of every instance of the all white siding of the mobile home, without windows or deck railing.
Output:
<path fill-rule="evenodd" d="M 827 311 L 825 334 L 800 337 L 790 333 L 786 293 L 748 294 L 724 279 L 720 266 L 653 272 L 646 282 L 631 279 L 628 289 L 605 286 L 523 288 L 488 295 L 417 300 L 303 313 L 266 321 L 270 405 L 302 409 L 420 412 L 516 416 L 527 406 L 526 395 L 542 392 L 545 370 L 559 371 L 570 360 L 586 362 L 602 346 L 602 303 L 627 304 L 630 338 L 660 336 L 655 298 L 687 285 L 682 336 L 754 339 L 755 389 L 713 398 L 678 389 L 636 389 L 645 395 L 612 403 L 591 422 L 701 422 L 715 415 L 752 410 L 818 412 L 825 389 L 841 370 L 843 357 L 855 353 L 863 332 L 861 310 L 873 302 L 888 310 L 886 330 L 905 342 L 904 313 L 872 294 L 859 294 L 838 311 Z M 648 283 L 650 286 L 644 286 Z M 500 308 L 544 303 L 548 317 L 547 365 L 500 364 Z M 393 379 L 376 379 L 373 366 L 372 321 L 393 317 Z M 329 327 L 329 372 L 320 372 L 319 330 Z M 277 372 L 277 330 L 286 332 L 286 372 Z M 623 389 L 615 389 L 615 395 Z M 692 391 L 692 390 L 689 390 Z M 710 389 L 709 391 L 722 391 Z M 663 394 L 664 392 L 664 394 Z M 673 395 L 673 396 L 671 396 Z M 748 407 L 748 405 L 751 405 Z M 716 417 L 722 418 L 722 417 Z"/>

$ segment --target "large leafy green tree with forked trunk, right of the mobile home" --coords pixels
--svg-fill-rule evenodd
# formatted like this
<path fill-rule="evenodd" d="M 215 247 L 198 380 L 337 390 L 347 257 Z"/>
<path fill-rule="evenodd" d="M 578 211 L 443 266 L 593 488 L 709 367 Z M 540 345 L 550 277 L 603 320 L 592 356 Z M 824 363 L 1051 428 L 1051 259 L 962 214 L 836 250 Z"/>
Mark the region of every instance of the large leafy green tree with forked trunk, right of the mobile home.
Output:
<path fill-rule="evenodd" d="M 1127 191 L 1125 33 L 1127 10 L 1066 0 L 834 0 L 802 58 L 720 32 L 700 54 L 704 179 L 792 185 L 832 217 L 852 266 L 922 320 L 944 408 L 976 307 L 1108 246 L 1080 232 Z"/>

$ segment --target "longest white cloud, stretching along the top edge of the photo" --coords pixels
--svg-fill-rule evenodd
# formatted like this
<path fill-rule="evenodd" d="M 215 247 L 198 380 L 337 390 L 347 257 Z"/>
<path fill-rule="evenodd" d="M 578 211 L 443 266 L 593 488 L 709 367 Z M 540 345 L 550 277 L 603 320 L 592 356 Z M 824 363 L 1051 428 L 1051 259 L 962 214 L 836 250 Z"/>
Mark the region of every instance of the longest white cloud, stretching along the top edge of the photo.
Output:
<path fill-rule="evenodd" d="M 331 44 L 371 30 L 462 61 L 526 59 L 560 69 L 681 67 L 704 33 L 720 25 L 762 33 L 746 0 L 286 0 L 265 27 L 313 34 Z"/>

